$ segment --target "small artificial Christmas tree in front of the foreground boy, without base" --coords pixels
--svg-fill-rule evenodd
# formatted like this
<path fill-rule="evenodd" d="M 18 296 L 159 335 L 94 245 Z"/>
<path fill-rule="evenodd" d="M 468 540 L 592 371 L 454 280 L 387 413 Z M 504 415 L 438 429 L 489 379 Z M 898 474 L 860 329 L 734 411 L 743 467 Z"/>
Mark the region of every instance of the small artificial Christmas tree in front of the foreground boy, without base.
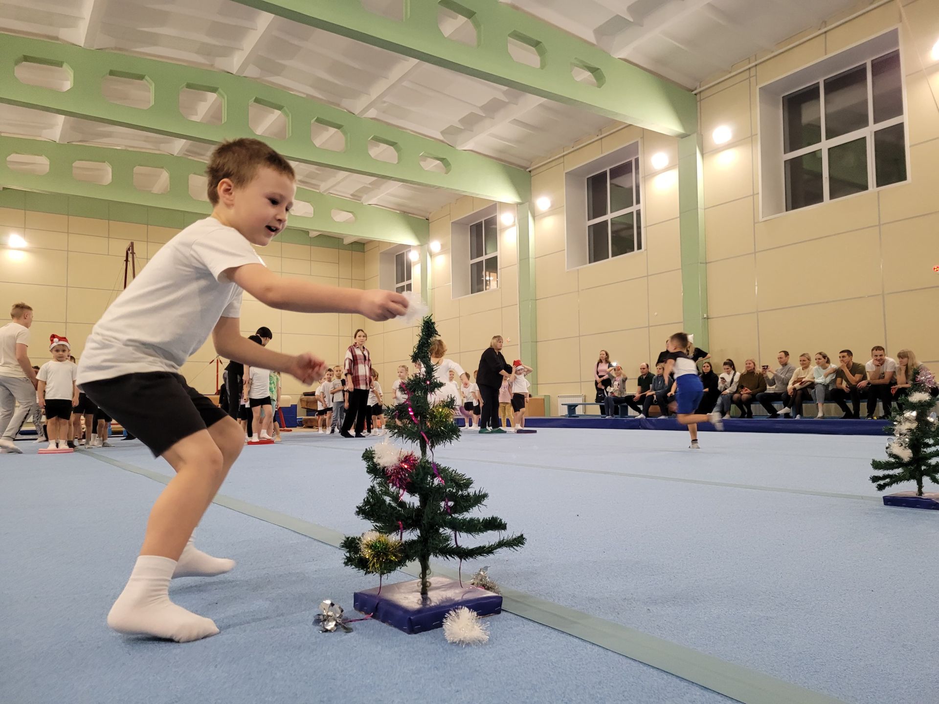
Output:
<path fill-rule="evenodd" d="M 506 525 L 497 516 L 467 515 L 482 506 L 488 494 L 474 490 L 465 474 L 434 460 L 435 447 L 460 436 L 454 423 L 453 399 L 434 405 L 428 398 L 443 386 L 434 377 L 430 361 L 430 345 L 436 337 L 437 326 L 428 315 L 411 355 L 421 371 L 403 382 L 405 402 L 385 409 L 389 436 L 418 445 L 420 456 L 387 441 L 362 453 L 372 483 L 356 515 L 371 523 L 373 531 L 361 537 L 347 536 L 342 543 L 346 565 L 365 574 L 389 574 L 417 560 L 422 596 L 430 587 L 432 557 L 479 559 L 525 544 L 523 535 L 473 546 L 458 542 L 457 536 L 501 532 Z"/>

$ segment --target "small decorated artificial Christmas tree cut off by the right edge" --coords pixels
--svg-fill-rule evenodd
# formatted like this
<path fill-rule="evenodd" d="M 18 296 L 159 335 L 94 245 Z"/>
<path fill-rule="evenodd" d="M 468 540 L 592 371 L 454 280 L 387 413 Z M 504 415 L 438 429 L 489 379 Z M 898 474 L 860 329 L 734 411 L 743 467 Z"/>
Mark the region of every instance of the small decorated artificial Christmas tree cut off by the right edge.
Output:
<path fill-rule="evenodd" d="M 932 373 L 919 367 L 904 409 L 897 407 L 893 411 L 893 437 L 886 446 L 887 459 L 870 462 L 870 467 L 880 472 L 870 477 L 877 491 L 902 482 L 916 482 L 916 496 L 922 497 L 924 478 L 939 484 L 939 422 L 932 412 L 936 400 L 931 393 L 934 388 Z"/>

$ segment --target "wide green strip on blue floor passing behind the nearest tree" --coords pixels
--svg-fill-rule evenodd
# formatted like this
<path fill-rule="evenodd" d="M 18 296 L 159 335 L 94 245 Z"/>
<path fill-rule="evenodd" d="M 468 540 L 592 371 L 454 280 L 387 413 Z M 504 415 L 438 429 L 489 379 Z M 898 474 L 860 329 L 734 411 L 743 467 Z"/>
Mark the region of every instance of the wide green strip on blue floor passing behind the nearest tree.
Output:
<path fill-rule="evenodd" d="M 83 454 L 112 467 L 139 474 L 154 482 L 166 484 L 172 479 L 169 475 L 111 459 L 96 451 L 86 451 Z M 343 538 L 343 534 L 339 531 L 286 513 L 271 511 L 239 498 L 219 494 L 213 503 L 271 525 L 286 528 L 332 547 L 339 547 Z M 454 570 L 437 563 L 434 564 L 434 571 L 450 577 L 456 576 Z M 417 571 L 413 567 L 405 567 L 402 572 L 417 576 Z M 742 704 L 845 704 L 841 699 L 833 696 L 813 692 L 792 682 L 777 680 L 762 672 L 734 665 L 698 650 L 685 648 L 685 646 L 642 633 L 619 623 L 598 619 L 590 614 L 539 599 L 531 594 L 514 589 L 502 589 L 502 596 L 502 608 L 511 614 L 567 635 L 573 635 L 639 663 L 653 666 L 717 694 L 729 696 Z"/>

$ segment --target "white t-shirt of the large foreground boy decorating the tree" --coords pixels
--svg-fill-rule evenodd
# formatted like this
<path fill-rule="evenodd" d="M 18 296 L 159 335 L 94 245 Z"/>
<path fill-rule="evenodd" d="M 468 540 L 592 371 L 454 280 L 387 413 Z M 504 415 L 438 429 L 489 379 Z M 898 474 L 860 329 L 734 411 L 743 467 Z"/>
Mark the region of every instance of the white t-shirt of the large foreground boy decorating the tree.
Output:
<path fill-rule="evenodd" d="M 193 222 L 154 254 L 91 330 L 79 385 L 140 372 L 178 374 L 219 318 L 239 317 L 241 288 L 223 272 L 246 264 L 264 262 L 238 230 L 214 218 Z"/>

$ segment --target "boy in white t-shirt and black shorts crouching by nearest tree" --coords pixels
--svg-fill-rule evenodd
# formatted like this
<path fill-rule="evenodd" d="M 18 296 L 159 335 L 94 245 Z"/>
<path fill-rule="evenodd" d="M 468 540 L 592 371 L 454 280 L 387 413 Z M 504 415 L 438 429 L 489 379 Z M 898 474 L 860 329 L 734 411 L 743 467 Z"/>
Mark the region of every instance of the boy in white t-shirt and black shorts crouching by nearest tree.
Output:
<path fill-rule="evenodd" d="M 310 353 L 285 355 L 243 338 L 242 291 L 281 310 L 357 313 L 371 320 L 404 314 L 408 299 L 282 279 L 254 252 L 286 225 L 295 176 L 263 142 L 218 146 L 208 164 L 212 215 L 173 237 L 147 263 L 92 329 L 78 384 L 93 402 L 175 470 L 150 512 L 140 557 L 108 614 L 120 633 L 183 642 L 219 632 L 212 620 L 175 605 L 170 579 L 232 569 L 192 545 L 192 530 L 238 458 L 238 422 L 179 374 L 212 335 L 228 360 L 274 369 L 311 384 L 324 362 Z"/>

